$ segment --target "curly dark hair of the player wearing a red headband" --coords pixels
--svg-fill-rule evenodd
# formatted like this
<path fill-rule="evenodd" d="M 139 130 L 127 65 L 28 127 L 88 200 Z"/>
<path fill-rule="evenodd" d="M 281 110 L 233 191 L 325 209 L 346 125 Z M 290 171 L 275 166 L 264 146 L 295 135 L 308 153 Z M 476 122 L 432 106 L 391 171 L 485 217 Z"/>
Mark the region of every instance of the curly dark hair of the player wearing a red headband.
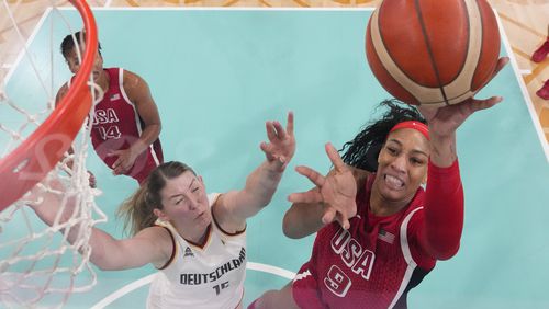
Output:
<path fill-rule="evenodd" d="M 416 121 L 427 124 L 425 118 L 414 106 L 397 100 L 384 100 L 374 111 L 385 107 L 388 111 L 378 121 L 367 123 L 361 131 L 350 141 L 347 141 L 339 152 L 345 163 L 374 172 L 378 170 L 378 156 L 385 142 L 389 130 L 396 124 Z"/>

